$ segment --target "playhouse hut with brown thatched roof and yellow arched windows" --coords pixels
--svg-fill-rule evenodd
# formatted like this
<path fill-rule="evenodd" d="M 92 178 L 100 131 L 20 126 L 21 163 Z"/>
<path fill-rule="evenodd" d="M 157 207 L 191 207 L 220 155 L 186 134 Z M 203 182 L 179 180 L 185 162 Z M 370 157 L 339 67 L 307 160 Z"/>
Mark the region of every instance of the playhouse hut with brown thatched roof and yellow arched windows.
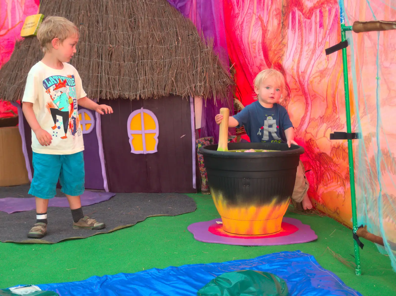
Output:
<path fill-rule="evenodd" d="M 84 135 L 85 187 L 197 192 L 194 97 L 227 98 L 232 84 L 210 42 L 166 0 L 42 0 L 40 13 L 79 27 L 71 64 L 88 97 L 108 99 L 114 109 L 105 116 L 82 107 L 69 114 L 68 135 Z M 42 56 L 37 38 L 18 42 L 0 70 L 0 98 L 21 99 L 27 74 Z M 31 180 L 31 129 L 13 104 Z M 59 129 L 64 119 L 56 116 Z M 42 128 L 57 137 L 56 128 Z"/>

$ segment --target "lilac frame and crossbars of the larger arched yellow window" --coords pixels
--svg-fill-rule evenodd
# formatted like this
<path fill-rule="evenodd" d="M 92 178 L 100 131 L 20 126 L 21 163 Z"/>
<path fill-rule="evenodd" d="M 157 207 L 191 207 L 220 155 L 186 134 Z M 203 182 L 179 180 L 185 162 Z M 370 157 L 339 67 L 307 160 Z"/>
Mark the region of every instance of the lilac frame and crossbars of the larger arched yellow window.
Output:
<path fill-rule="evenodd" d="M 131 130 L 132 118 L 135 117 L 135 115 L 137 115 L 139 113 L 140 113 L 140 120 L 141 120 L 142 130 Z M 155 130 L 145 130 L 145 123 L 144 123 L 143 113 L 146 113 L 147 115 L 150 115 L 151 118 L 154 120 L 155 127 L 156 127 Z M 158 119 L 155 116 L 155 114 L 152 113 L 152 111 L 150 111 L 148 109 L 143 109 L 143 107 L 133 111 L 128 117 L 127 130 L 128 130 L 128 137 L 129 137 L 129 145 L 131 145 L 131 153 L 134 153 L 134 154 L 148 154 L 148 153 L 156 153 L 158 151 L 157 150 L 157 147 L 158 147 L 158 134 L 159 134 Z M 147 151 L 146 150 L 146 137 L 145 137 L 145 134 L 151 134 L 151 133 L 155 133 L 155 136 L 154 136 L 155 147 L 154 147 L 154 150 Z M 132 144 L 132 140 L 133 140 L 133 136 L 132 135 L 133 134 L 141 134 L 142 135 L 143 151 L 135 151 L 135 147 L 133 147 L 133 144 Z"/>

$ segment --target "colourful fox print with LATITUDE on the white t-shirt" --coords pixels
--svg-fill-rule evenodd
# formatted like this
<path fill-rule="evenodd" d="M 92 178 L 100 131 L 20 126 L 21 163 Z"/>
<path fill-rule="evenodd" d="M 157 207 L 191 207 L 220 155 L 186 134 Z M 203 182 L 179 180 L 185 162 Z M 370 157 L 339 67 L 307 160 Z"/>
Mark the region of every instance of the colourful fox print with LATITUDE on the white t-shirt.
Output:
<path fill-rule="evenodd" d="M 80 136 L 74 75 L 48 77 L 44 79 L 43 86 L 51 98 L 46 108 L 53 120 L 53 126 L 51 126 L 53 136 L 58 136 L 58 130 L 61 139 L 67 139 L 68 130 L 73 138 L 76 134 Z"/>

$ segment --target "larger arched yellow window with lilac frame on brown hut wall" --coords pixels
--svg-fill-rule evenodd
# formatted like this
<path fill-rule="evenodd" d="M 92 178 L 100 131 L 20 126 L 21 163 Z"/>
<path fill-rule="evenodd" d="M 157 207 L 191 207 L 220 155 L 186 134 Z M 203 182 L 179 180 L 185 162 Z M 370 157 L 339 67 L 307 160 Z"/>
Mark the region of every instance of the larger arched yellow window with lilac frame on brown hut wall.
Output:
<path fill-rule="evenodd" d="M 157 152 L 158 120 L 152 111 L 143 109 L 143 107 L 133 111 L 128 117 L 127 128 L 131 153 Z"/>

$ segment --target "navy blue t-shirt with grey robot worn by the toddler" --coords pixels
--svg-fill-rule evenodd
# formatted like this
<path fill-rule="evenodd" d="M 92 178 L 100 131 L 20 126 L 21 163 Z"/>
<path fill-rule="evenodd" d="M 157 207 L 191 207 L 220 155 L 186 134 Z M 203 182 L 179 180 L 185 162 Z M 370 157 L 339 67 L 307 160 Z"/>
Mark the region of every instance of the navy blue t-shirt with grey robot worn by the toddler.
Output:
<path fill-rule="evenodd" d="M 286 108 L 279 104 L 265 108 L 255 101 L 233 117 L 237 127 L 245 126 L 251 142 L 286 143 L 285 130 L 293 127 Z"/>

